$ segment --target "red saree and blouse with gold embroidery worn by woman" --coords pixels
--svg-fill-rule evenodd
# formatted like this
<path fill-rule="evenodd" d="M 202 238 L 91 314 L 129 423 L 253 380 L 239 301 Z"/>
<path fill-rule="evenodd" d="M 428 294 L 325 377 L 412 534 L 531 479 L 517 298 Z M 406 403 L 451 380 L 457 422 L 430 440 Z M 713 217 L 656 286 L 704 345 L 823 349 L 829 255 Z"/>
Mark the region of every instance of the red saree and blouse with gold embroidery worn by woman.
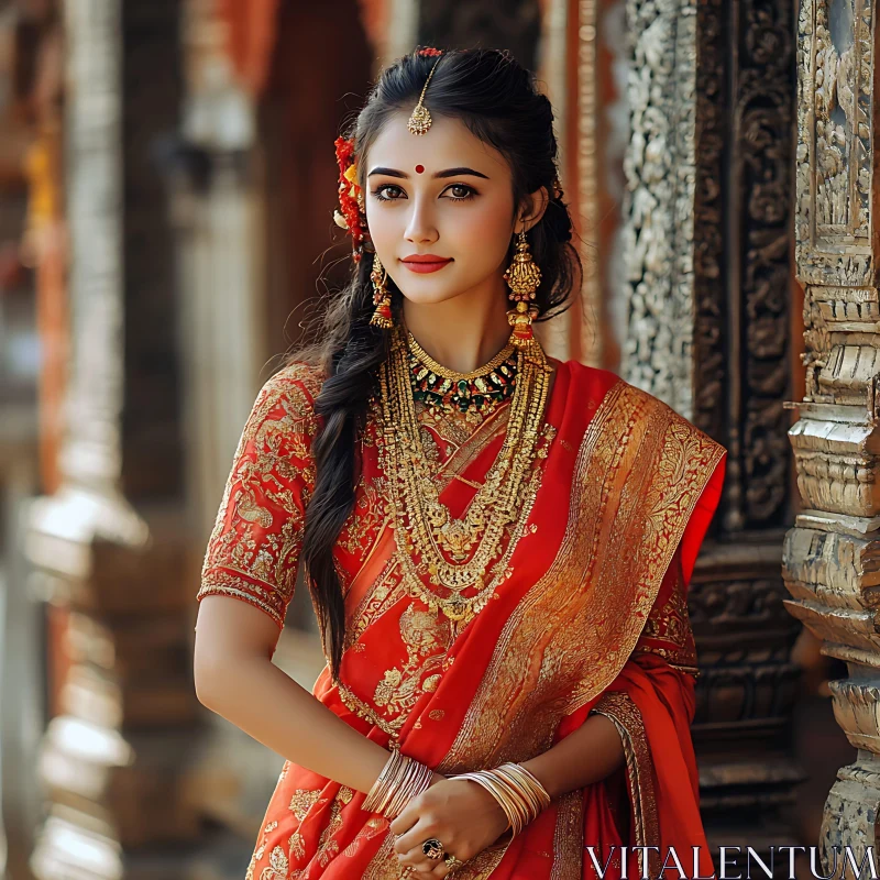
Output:
<path fill-rule="evenodd" d="M 355 512 L 337 547 L 346 607 L 342 684 L 324 669 L 314 694 L 364 736 L 394 741 L 447 776 L 527 760 L 591 712 L 612 718 L 625 767 L 554 801 L 513 842 L 454 871 L 457 880 L 593 878 L 609 854 L 605 877 L 616 880 L 619 849 L 609 847 L 620 844 L 658 847 L 646 850 L 652 877 L 669 847 L 691 876 L 692 847 L 700 847 L 705 877 L 713 866 L 689 729 L 696 658 L 685 595 L 721 496 L 725 451 L 613 374 L 553 363 L 540 452 L 508 530 L 503 576 L 458 636 L 400 588 L 371 416 Z M 318 388 L 317 374 L 295 365 L 261 391 L 199 598 L 235 596 L 283 625 L 314 485 L 310 404 Z M 432 435 L 441 497 L 453 516 L 501 448 L 506 409 L 470 437 Z M 361 810 L 364 798 L 286 761 L 249 880 L 402 877 L 388 823 Z M 626 867 L 639 877 L 631 850 Z"/>

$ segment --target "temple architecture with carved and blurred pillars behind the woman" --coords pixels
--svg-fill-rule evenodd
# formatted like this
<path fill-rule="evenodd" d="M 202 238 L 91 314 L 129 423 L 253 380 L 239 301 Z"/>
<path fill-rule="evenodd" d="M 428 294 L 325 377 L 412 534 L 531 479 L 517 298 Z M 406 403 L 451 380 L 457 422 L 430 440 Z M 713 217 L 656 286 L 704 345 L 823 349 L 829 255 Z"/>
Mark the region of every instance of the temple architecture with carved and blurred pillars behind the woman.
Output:
<path fill-rule="evenodd" d="M 257 388 L 344 272 L 333 139 L 419 44 L 509 48 L 556 108 L 585 273 L 550 352 L 729 451 L 689 600 L 710 843 L 875 845 L 873 29 L 865 0 L 0 4 L 0 295 L 31 290 L 41 343 L 30 470 L 0 471 L 0 877 L 243 876 L 280 759 L 196 701 L 201 556 Z M 843 756 L 812 839 L 807 654 Z M 323 664 L 305 590 L 275 661 Z"/>

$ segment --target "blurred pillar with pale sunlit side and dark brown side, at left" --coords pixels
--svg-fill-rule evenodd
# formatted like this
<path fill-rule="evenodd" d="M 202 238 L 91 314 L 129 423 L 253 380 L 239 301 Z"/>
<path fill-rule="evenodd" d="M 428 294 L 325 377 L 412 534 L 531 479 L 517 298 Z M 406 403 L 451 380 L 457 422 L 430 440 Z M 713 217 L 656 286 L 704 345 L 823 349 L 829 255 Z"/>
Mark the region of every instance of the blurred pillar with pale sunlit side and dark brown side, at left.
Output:
<path fill-rule="evenodd" d="M 186 875 L 199 835 L 198 705 L 174 262 L 151 148 L 176 124 L 177 0 L 67 0 L 72 314 L 62 485 L 28 552 L 66 609 L 59 713 L 42 744 L 41 880 Z"/>

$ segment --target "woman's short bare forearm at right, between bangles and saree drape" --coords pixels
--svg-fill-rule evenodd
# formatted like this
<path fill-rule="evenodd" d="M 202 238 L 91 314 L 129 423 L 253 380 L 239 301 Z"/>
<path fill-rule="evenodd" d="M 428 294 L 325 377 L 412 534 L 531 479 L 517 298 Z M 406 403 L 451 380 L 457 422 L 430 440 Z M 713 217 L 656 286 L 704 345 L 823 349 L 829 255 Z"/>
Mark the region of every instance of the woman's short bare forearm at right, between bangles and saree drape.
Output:
<path fill-rule="evenodd" d="M 556 799 L 605 779 L 624 760 L 624 744 L 614 722 L 605 715 L 591 715 L 556 746 L 520 763 Z"/>

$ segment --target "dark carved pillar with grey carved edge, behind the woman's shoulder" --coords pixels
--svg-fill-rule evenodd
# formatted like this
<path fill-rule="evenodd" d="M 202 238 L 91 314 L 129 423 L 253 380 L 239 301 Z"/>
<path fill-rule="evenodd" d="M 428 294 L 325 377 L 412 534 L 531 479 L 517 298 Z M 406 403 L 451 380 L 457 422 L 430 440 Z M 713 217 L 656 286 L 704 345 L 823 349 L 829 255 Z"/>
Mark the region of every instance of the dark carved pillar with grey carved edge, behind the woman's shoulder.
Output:
<path fill-rule="evenodd" d="M 690 594 L 710 844 L 791 843 L 799 626 L 785 612 L 794 58 L 789 0 L 627 0 L 623 375 L 723 442 Z"/>

